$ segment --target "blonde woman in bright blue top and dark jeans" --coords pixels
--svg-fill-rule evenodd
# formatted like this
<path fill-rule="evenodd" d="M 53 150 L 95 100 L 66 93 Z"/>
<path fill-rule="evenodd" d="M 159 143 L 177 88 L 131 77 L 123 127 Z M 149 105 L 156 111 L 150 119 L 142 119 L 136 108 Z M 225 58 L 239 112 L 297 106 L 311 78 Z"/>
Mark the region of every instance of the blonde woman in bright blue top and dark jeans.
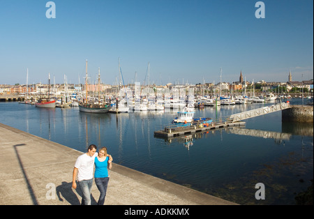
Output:
<path fill-rule="evenodd" d="M 103 147 L 99 150 L 98 156 L 95 158 L 95 183 L 100 191 L 100 197 L 98 199 L 98 205 L 105 203 L 105 197 L 107 192 L 107 186 L 109 182 L 108 169 L 112 167 L 112 156 L 107 154 L 107 148 Z"/>

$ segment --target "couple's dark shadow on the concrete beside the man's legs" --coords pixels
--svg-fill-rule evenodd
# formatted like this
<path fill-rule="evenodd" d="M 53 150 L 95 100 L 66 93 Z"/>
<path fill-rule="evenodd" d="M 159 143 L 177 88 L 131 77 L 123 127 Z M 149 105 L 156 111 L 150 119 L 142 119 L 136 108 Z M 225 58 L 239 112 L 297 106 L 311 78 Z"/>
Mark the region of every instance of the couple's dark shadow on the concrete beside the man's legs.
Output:
<path fill-rule="evenodd" d="M 82 202 L 82 190 L 80 189 L 80 186 L 78 185 L 78 183 L 77 183 L 77 188 L 75 189 L 77 194 L 75 194 L 73 190 L 74 189 L 72 188 L 72 182 L 67 183 L 63 181 L 60 186 L 56 187 L 56 192 L 57 192 L 59 201 L 64 202 L 63 200 L 64 198 L 71 205 L 80 205 Z M 80 197 L 77 197 L 77 195 L 80 195 Z M 93 194 L 91 194 L 91 204 L 92 205 L 97 204 L 96 200 L 93 197 Z"/>

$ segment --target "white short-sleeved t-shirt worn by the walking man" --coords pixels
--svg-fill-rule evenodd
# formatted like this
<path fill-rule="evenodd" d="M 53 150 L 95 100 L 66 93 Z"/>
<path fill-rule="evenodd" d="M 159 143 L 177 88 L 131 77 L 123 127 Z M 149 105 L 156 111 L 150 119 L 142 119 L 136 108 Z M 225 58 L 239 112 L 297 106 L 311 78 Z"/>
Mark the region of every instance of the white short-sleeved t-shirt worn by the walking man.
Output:
<path fill-rule="evenodd" d="M 78 169 L 77 173 L 78 181 L 93 179 L 94 160 L 97 156 L 98 156 L 97 152 L 92 157 L 88 156 L 87 153 L 84 153 L 77 158 L 74 167 Z"/>

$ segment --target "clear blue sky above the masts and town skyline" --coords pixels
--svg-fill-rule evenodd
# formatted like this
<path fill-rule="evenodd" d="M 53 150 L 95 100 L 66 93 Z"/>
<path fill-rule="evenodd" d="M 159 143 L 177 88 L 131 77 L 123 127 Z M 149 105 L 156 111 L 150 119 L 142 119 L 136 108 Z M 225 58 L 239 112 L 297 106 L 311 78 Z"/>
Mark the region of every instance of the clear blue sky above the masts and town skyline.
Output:
<path fill-rule="evenodd" d="M 0 84 L 313 79 L 313 0 L 0 0 Z M 303 77 L 302 77 L 303 75 Z"/>

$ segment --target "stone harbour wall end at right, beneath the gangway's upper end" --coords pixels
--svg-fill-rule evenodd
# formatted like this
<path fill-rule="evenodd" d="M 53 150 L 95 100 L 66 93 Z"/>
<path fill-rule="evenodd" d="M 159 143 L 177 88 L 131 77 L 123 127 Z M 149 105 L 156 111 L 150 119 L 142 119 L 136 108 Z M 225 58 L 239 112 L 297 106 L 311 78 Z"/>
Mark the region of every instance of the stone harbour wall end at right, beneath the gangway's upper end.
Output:
<path fill-rule="evenodd" d="M 295 121 L 302 123 L 313 123 L 313 106 L 292 105 L 291 108 L 283 110 L 282 121 Z"/>

